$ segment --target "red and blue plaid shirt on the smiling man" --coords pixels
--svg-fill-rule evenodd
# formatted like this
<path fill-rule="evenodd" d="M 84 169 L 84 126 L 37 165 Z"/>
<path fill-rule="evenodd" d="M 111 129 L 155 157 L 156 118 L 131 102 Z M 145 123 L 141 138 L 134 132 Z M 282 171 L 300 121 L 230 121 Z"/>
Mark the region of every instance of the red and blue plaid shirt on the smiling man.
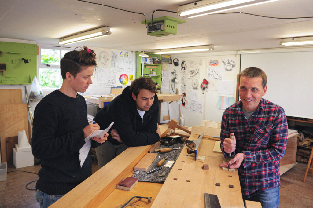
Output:
<path fill-rule="evenodd" d="M 249 198 L 267 188 L 280 186 L 280 159 L 285 155 L 288 124 L 284 109 L 266 99 L 260 100 L 250 121 L 241 106 L 239 101 L 223 113 L 221 148 L 223 151 L 224 139 L 234 133 L 235 153 L 244 153 L 238 168 L 241 191 L 244 198 Z"/>

